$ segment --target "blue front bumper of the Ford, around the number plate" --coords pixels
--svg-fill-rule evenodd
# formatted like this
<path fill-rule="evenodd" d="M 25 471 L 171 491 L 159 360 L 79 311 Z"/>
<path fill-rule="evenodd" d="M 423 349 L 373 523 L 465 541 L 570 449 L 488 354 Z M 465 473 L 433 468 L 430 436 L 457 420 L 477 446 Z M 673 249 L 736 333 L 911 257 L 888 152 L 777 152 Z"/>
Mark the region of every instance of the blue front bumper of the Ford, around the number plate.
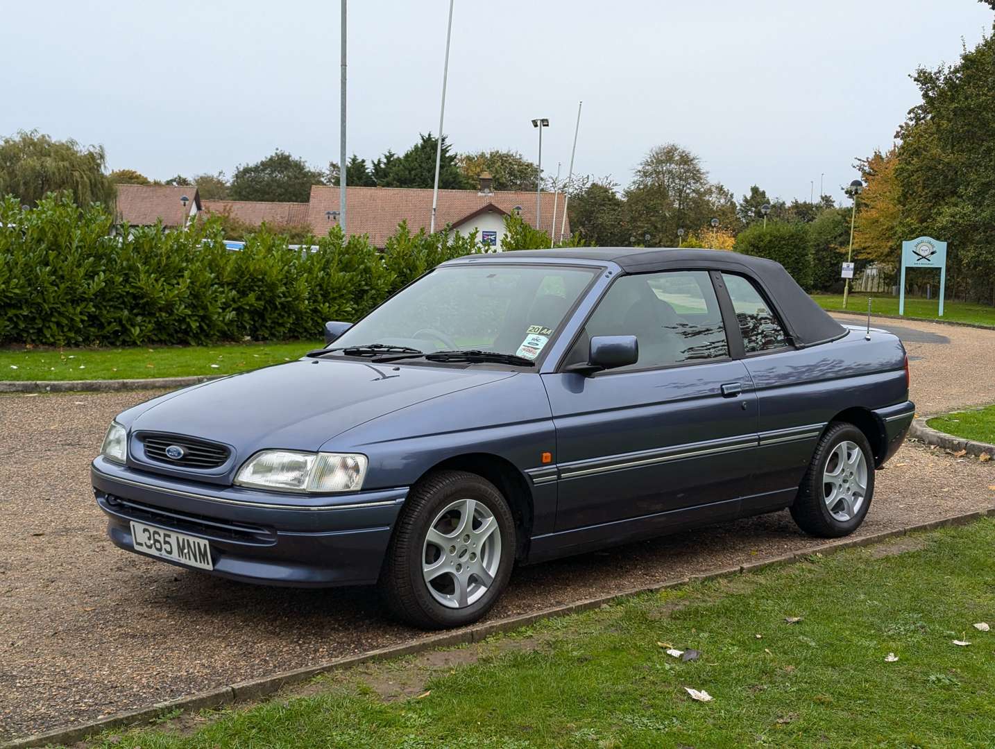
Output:
<path fill-rule="evenodd" d="M 212 574 L 295 587 L 376 582 L 408 494 L 406 487 L 323 496 L 218 487 L 104 458 L 90 472 L 107 535 L 122 549 L 135 551 L 135 520 L 207 539 Z"/>

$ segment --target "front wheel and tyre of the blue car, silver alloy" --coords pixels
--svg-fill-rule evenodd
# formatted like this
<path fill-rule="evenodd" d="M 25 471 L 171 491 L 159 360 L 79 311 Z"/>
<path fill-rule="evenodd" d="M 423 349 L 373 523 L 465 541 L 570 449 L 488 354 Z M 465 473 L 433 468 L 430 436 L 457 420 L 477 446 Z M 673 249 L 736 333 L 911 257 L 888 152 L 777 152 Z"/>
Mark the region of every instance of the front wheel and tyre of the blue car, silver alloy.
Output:
<path fill-rule="evenodd" d="M 380 574 L 384 601 L 422 629 L 472 624 L 507 586 L 515 542 L 514 518 L 493 483 L 462 470 L 431 473 L 397 520 Z"/>

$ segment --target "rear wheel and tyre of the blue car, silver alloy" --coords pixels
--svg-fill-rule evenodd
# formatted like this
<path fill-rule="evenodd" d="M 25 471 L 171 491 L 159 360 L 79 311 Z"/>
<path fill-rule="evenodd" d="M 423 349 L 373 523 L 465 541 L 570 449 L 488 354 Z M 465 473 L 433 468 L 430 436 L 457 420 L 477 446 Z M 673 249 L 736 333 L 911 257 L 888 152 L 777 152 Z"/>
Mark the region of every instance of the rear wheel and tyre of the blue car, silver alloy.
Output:
<path fill-rule="evenodd" d="M 867 517 L 874 478 L 874 454 L 867 437 L 853 424 L 834 422 L 816 446 L 791 516 L 813 536 L 850 535 Z"/>

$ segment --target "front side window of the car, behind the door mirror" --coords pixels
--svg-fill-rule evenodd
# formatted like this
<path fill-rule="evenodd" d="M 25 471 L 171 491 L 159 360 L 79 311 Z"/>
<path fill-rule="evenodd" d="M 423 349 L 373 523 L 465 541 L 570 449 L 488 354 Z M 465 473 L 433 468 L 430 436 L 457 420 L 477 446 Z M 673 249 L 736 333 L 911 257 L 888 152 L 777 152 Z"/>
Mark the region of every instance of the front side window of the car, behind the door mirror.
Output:
<path fill-rule="evenodd" d="M 706 271 L 669 271 L 623 276 L 591 314 L 570 361 L 585 361 L 595 335 L 635 335 L 639 361 L 623 369 L 647 369 L 729 355 L 722 315 Z M 619 371 L 619 370 L 613 370 Z"/>

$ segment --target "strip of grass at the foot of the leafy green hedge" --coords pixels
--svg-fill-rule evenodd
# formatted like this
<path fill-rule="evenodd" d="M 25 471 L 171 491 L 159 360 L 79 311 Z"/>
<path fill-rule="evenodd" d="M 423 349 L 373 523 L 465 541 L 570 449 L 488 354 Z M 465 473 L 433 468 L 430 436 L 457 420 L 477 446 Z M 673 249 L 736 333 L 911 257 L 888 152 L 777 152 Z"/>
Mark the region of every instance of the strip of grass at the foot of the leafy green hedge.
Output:
<path fill-rule="evenodd" d="M 138 348 L 0 348 L 0 380 L 122 380 L 244 372 L 297 359 L 321 341 Z"/>

